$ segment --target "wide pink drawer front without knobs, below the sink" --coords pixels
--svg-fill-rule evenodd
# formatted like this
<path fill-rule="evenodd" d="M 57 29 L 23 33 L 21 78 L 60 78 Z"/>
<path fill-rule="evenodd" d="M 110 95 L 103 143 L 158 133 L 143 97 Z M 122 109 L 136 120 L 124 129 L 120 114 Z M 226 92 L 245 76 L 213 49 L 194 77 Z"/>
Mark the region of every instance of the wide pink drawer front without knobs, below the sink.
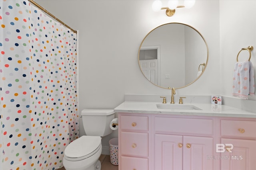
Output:
<path fill-rule="evenodd" d="M 155 117 L 155 126 L 158 132 L 213 134 L 212 119 Z"/>

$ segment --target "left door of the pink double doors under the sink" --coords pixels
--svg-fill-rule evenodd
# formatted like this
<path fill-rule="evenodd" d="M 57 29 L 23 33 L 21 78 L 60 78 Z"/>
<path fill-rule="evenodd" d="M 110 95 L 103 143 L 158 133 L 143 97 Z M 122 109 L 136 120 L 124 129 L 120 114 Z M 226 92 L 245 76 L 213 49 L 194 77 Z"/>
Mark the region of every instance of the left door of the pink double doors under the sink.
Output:
<path fill-rule="evenodd" d="M 155 135 L 155 169 L 182 170 L 182 136 Z"/>

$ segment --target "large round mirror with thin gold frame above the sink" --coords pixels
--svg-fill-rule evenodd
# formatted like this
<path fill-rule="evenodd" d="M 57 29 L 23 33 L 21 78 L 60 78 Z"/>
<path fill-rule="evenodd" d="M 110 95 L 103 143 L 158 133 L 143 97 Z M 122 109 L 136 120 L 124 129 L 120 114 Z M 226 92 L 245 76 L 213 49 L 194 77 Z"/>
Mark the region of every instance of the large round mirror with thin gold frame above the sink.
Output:
<path fill-rule="evenodd" d="M 150 31 L 140 44 L 140 70 L 161 88 L 183 88 L 195 82 L 208 63 L 208 46 L 194 27 L 166 23 Z"/>

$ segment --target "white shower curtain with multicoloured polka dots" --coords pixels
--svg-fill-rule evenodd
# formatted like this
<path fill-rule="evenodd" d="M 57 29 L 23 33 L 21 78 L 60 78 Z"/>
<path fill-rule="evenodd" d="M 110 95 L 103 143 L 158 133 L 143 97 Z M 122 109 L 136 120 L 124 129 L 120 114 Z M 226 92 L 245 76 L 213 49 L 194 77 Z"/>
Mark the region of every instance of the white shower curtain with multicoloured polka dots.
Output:
<path fill-rule="evenodd" d="M 0 0 L 0 170 L 62 167 L 78 138 L 76 39 L 27 0 Z"/>

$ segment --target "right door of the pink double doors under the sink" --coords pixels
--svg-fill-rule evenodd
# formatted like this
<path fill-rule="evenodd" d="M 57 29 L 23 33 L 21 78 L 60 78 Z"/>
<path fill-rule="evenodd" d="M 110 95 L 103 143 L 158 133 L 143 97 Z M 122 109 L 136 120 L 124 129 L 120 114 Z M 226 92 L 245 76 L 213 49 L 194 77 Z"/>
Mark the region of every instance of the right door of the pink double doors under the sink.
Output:
<path fill-rule="evenodd" d="M 183 136 L 183 169 L 213 170 L 213 160 L 207 159 L 213 155 L 212 137 Z"/>

